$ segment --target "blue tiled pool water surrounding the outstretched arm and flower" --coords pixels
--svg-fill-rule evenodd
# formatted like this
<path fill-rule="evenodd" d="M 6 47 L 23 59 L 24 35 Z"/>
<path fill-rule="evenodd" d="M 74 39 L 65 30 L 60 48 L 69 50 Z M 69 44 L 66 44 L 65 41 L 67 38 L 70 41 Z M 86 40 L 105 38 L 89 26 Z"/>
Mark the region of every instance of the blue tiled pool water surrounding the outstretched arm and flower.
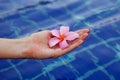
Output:
<path fill-rule="evenodd" d="M 1 38 L 61 25 L 91 33 L 57 59 L 1 59 L 0 80 L 120 80 L 120 0 L 0 0 Z"/>

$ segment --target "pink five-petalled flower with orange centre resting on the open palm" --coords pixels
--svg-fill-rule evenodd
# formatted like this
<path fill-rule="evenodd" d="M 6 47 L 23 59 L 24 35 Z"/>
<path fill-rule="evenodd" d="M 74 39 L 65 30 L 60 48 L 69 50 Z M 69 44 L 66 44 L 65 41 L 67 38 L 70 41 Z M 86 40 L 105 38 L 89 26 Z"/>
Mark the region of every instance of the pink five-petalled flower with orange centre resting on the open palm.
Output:
<path fill-rule="evenodd" d="M 59 43 L 61 49 L 65 49 L 69 46 L 67 41 L 72 41 L 79 37 L 76 32 L 69 32 L 69 27 L 61 26 L 60 30 L 52 30 L 54 36 L 49 40 L 49 46 L 53 47 Z"/>

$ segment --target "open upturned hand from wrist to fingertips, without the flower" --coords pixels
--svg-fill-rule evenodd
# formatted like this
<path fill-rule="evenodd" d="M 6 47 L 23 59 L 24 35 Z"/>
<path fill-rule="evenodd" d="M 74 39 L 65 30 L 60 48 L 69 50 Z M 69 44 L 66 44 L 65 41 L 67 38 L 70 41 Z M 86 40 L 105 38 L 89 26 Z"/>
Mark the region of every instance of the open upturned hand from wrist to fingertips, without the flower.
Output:
<path fill-rule="evenodd" d="M 83 29 L 76 31 L 79 34 L 79 38 L 69 42 L 70 46 L 66 49 L 61 49 L 57 45 L 53 48 L 48 46 L 48 41 L 51 38 L 49 30 L 33 33 L 29 38 L 29 48 L 24 52 L 27 58 L 45 59 L 56 58 L 66 54 L 74 48 L 81 45 L 85 38 L 89 35 L 89 29 Z"/>

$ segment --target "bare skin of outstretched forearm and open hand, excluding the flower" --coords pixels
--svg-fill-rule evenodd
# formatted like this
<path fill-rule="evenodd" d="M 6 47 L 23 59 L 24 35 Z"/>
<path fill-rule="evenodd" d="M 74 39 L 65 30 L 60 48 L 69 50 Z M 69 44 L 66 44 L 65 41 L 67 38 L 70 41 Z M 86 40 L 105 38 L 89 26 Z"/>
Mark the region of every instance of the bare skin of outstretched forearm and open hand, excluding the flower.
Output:
<path fill-rule="evenodd" d="M 58 45 L 50 48 L 48 41 L 51 38 L 50 30 L 33 33 L 32 35 L 20 39 L 0 38 L 0 58 L 26 58 L 26 59 L 46 59 L 57 58 L 80 46 L 89 35 L 89 29 L 76 31 L 79 38 L 68 42 L 69 47 L 61 49 Z"/>

